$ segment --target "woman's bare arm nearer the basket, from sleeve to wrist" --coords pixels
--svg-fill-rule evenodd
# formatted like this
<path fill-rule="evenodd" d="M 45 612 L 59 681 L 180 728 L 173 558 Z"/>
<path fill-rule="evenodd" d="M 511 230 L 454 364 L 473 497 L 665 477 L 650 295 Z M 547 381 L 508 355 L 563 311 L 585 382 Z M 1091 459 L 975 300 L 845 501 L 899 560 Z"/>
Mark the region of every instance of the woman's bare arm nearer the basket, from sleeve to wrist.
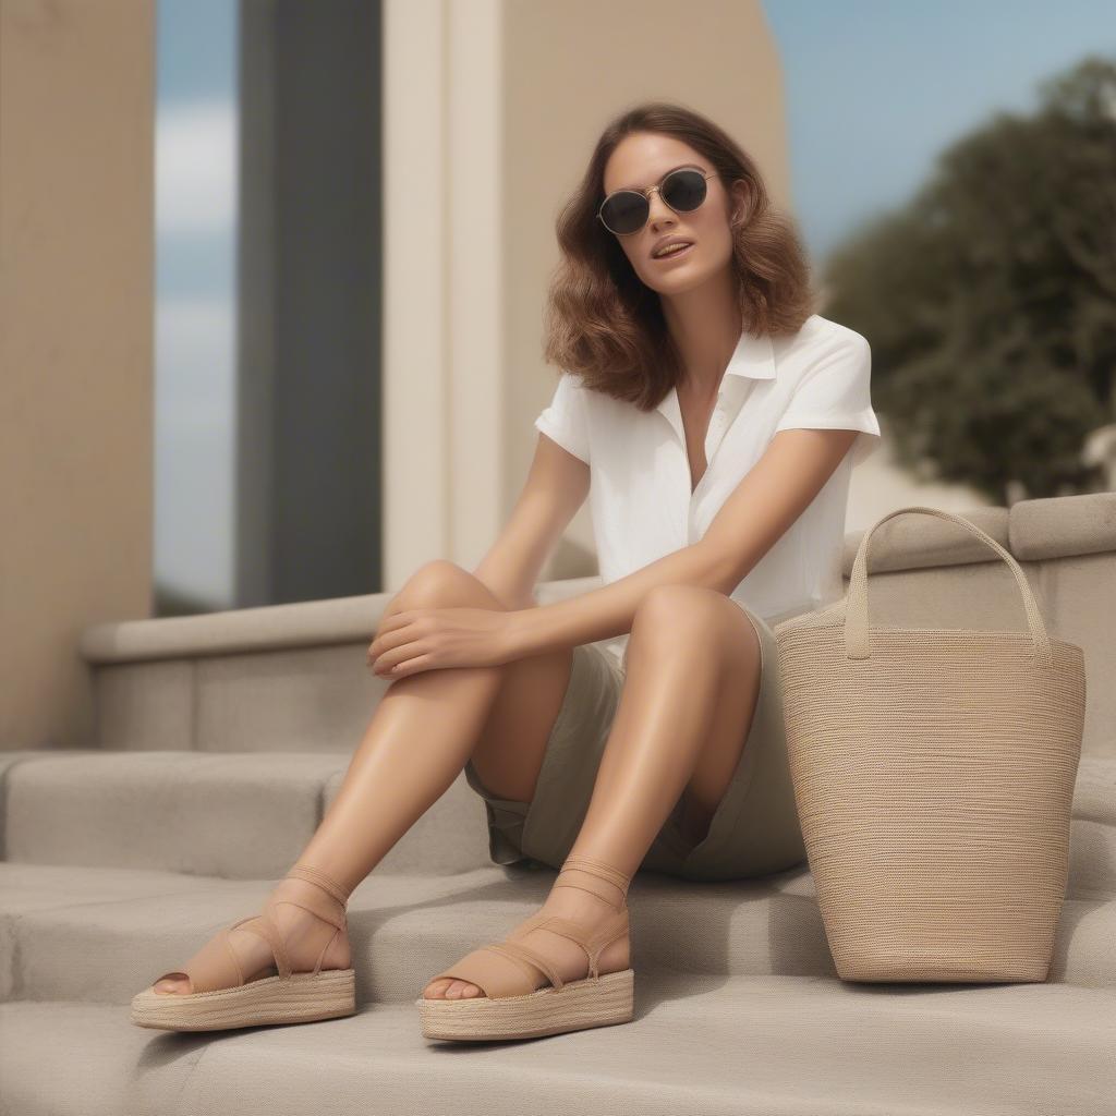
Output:
<path fill-rule="evenodd" d="M 704 585 L 728 596 L 821 491 L 856 435 L 780 431 L 700 541 L 599 589 L 514 613 L 516 657 L 631 632 L 636 607 L 656 585 Z"/>

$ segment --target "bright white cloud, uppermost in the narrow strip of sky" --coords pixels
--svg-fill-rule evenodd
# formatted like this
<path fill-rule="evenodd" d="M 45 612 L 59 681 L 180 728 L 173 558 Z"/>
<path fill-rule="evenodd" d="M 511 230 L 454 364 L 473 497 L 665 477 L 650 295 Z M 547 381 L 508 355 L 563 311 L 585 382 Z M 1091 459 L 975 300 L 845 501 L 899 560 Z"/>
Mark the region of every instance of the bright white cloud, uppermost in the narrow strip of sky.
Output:
<path fill-rule="evenodd" d="M 239 116 L 229 100 L 161 107 L 155 129 L 158 235 L 230 230 L 237 218 Z"/>

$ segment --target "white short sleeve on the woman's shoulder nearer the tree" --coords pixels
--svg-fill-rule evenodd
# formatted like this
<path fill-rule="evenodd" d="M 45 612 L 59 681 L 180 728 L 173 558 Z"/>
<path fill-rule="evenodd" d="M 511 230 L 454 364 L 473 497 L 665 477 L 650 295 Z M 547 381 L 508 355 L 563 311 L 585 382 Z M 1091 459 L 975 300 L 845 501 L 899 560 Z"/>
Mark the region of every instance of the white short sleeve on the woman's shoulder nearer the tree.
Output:
<path fill-rule="evenodd" d="M 852 456 L 856 464 L 881 442 L 879 422 L 872 410 L 872 347 L 859 334 L 848 345 L 818 359 L 796 384 L 780 430 L 858 430 Z"/>

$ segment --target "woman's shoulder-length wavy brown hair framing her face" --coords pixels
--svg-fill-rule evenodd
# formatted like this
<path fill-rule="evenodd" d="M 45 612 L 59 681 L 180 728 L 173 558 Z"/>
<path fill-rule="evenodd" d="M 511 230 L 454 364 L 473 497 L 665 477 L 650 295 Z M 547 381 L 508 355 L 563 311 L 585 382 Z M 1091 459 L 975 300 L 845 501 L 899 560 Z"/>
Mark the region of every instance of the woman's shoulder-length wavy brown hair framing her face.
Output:
<path fill-rule="evenodd" d="M 772 208 L 754 161 L 712 121 L 667 102 L 645 102 L 604 129 L 580 184 L 557 220 L 561 261 L 550 281 L 545 359 L 586 387 L 650 411 L 681 377 L 682 363 L 658 292 L 635 273 L 616 238 L 597 220 L 605 164 L 635 132 L 689 144 L 728 185 L 743 179 L 744 212 L 733 227 L 732 268 L 741 320 L 753 337 L 797 333 L 814 312 L 806 251 L 793 220 Z"/>

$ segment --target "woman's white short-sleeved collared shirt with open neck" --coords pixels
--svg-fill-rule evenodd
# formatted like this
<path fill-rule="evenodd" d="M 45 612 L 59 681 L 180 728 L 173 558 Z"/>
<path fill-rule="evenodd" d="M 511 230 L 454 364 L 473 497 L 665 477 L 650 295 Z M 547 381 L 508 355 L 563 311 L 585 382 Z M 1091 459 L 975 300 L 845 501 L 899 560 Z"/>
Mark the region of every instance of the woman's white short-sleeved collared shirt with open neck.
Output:
<path fill-rule="evenodd" d="M 675 388 L 644 412 L 561 373 L 535 425 L 589 464 L 603 583 L 699 541 L 779 431 L 857 430 L 829 480 L 731 594 L 769 624 L 840 599 L 849 478 L 881 437 L 870 371 L 867 340 L 817 314 L 790 337 L 742 334 L 721 377 L 705 437 L 708 466 L 693 493 Z M 620 658 L 627 639 L 616 636 L 604 646 Z"/>

